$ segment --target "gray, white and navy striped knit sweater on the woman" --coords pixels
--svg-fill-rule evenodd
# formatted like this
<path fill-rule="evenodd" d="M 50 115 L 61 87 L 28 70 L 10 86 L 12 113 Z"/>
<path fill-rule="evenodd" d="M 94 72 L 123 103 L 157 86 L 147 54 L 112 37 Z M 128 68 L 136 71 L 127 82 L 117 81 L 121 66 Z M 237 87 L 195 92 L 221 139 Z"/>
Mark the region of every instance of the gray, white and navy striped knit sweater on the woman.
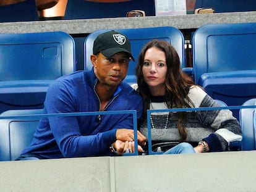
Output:
<path fill-rule="evenodd" d="M 199 86 L 190 88 L 189 98 L 195 107 L 216 107 L 218 103 L 208 96 Z M 163 97 L 152 98 L 150 109 L 167 109 Z M 152 141 L 179 141 L 177 130 L 177 113 L 151 113 Z M 229 110 L 187 112 L 186 117 L 187 142 L 205 140 L 210 151 L 228 151 L 229 143 L 242 140 L 239 122 Z M 148 136 L 147 120 L 139 128 L 141 133 Z"/>

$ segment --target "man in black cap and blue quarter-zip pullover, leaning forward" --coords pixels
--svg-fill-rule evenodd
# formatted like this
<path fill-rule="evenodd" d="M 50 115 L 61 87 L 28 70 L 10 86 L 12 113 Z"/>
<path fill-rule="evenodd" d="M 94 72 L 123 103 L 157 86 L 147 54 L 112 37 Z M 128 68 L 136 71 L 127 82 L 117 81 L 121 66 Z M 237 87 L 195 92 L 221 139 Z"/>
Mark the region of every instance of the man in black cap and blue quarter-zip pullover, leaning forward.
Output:
<path fill-rule="evenodd" d="M 55 80 L 48 88 L 44 112 L 137 110 L 140 118 L 142 98 L 122 82 L 130 59 L 134 57 L 126 36 L 116 31 L 99 35 L 93 44 L 93 69 Z M 137 138 L 145 144 L 139 131 Z M 123 154 L 126 149 L 134 151 L 133 141 L 131 114 L 42 118 L 32 143 L 17 160 L 109 156 L 113 143 L 117 153 Z"/>

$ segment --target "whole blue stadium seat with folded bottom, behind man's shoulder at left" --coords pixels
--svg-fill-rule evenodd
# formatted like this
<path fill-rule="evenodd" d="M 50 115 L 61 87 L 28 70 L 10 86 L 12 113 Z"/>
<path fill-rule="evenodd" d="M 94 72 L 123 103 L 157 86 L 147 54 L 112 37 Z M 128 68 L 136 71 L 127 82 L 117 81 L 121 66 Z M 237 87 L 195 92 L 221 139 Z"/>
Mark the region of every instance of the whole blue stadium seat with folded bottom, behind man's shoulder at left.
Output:
<path fill-rule="evenodd" d="M 41 109 L 49 84 L 75 71 L 73 38 L 64 32 L 0 34 L 0 112 Z"/>

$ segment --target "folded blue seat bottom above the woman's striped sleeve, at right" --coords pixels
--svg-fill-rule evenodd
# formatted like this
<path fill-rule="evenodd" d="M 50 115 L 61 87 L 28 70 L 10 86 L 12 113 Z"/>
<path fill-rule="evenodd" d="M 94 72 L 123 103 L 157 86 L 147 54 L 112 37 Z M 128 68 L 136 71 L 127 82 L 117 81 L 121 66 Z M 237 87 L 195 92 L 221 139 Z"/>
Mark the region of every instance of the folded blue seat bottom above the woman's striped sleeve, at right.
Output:
<path fill-rule="evenodd" d="M 256 70 L 203 73 L 198 84 L 211 97 L 222 99 L 229 106 L 240 106 L 250 98 L 256 98 Z M 239 119 L 239 110 L 233 110 Z"/>

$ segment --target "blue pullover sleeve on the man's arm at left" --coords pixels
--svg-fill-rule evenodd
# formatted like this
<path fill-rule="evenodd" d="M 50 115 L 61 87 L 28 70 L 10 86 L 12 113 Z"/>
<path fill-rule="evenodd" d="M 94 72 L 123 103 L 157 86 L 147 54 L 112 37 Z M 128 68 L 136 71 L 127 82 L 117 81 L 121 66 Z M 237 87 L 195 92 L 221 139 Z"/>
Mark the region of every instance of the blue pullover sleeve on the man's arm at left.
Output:
<path fill-rule="evenodd" d="M 64 84 L 58 81 L 49 86 L 45 100 L 45 109 L 48 114 L 78 112 L 75 96 L 69 91 Z M 103 155 L 108 151 L 110 144 L 116 140 L 116 129 L 83 134 L 80 119 L 82 118 L 76 116 L 49 117 L 51 131 L 62 155 L 64 157 Z M 95 120 L 90 121 L 92 117 L 89 116 L 87 119 L 88 123 L 84 121 L 86 125 L 83 126 L 92 129 L 94 127 L 92 122 Z"/>

